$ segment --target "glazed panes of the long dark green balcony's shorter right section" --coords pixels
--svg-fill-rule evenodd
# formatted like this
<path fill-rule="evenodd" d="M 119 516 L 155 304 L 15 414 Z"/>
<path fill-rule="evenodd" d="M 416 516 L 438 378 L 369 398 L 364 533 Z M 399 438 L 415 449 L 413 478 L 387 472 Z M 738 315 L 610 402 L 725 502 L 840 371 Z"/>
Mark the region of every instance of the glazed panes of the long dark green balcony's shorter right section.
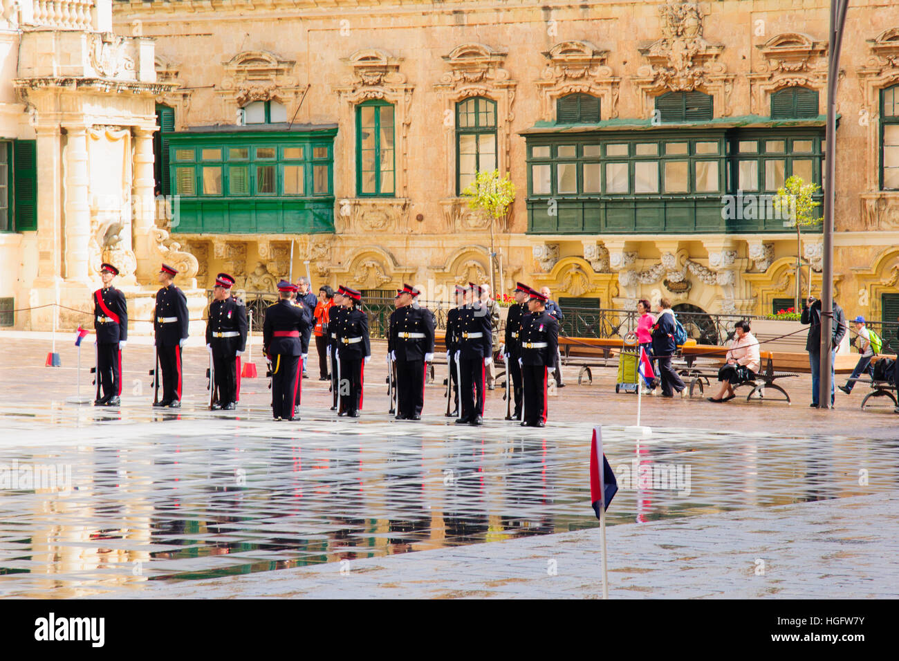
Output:
<path fill-rule="evenodd" d="M 741 135 L 728 144 L 734 190 L 774 193 L 790 176 L 822 185 L 820 135 Z"/>

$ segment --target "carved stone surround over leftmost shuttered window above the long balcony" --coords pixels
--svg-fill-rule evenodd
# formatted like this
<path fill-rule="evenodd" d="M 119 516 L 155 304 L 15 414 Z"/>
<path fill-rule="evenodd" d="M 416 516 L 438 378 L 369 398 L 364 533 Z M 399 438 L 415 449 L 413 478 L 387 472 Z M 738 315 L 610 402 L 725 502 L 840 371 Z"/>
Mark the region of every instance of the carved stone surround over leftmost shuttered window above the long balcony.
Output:
<path fill-rule="evenodd" d="M 562 41 L 543 53 L 547 67 L 537 82 L 540 94 L 541 119 L 556 119 L 556 100 L 566 94 L 583 93 L 601 99 L 602 119 L 619 116 L 618 100 L 621 79 L 612 76 L 606 65 L 608 50 L 601 50 L 589 41 Z"/>

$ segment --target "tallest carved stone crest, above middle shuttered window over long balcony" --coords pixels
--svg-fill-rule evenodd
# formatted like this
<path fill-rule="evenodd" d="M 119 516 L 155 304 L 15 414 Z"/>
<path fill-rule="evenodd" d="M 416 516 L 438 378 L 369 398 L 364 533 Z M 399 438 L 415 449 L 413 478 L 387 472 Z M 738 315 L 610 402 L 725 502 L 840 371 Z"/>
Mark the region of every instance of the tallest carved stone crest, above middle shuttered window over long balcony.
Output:
<path fill-rule="evenodd" d="M 666 90 L 690 92 L 702 89 L 715 97 L 716 114 L 728 116 L 734 76 L 726 74 L 717 60 L 723 46 L 708 43 L 702 36 L 703 13 L 698 3 L 672 2 L 659 5 L 662 39 L 639 51 L 649 60 L 640 67 L 634 82 L 644 91 L 644 112 L 649 99 Z"/>

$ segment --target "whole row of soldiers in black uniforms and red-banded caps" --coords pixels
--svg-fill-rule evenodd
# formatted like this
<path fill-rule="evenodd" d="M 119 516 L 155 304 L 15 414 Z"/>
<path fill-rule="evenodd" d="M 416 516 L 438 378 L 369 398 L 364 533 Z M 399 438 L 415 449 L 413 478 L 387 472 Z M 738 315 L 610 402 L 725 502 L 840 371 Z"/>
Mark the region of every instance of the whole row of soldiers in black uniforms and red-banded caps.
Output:
<path fill-rule="evenodd" d="M 128 336 L 124 294 L 111 286 L 118 270 L 102 264 L 103 287 L 94 292 L 97 333 L 97 406 L 118 406 L 121 350 Z M 165 264 L 163 287 L 154 310 L 156 380 L 163 389 L 154 406 L 177 408 L 182 398 L 182 347 L 188 337 L 187 299 L 174 286 L 177 270 Z M 218 273 L 209 305 L 206 345 L 210 353 L 210 408 L 234 410 L 240 398 L 241 355 L 247 335 L 246 308 L 231 295 L 235 280 Z M 297 286 L 280 281 L 279 300 L 266 310 L 263 353 L 271 362 L 271 409 L 276 420 L 298 419 L 301 372 L 307 361 L 312 310 L 297 296 Z M 482 287 L 457 286 L 456 307 L 447 315 L 448 389 L 455 399 L 457 424 L 483 424 L 485 369 L 494 360 L 492 327 L 481 303 Z M 387 367 L 396 389 L 396 419 L 420 420 L 428 364 L 433 361 L 433 313 L 418 304 L 421 292 L 404 284 L 396 292 L 396 310 L 387 328 Z M 504 359 L 512 378 L 514 412 L 507 420 L 544 426 L 547 419 L 547 371 L 554 367 L 558 323 L 546 311 L 547 298 L 521 282 L 514 291 L 505 329 Z M 334 293 L 327 325 L 328 361 L 333 404 L 338 415 L 358 417 L 363 402 L 364 368 L 371 358 L 369 320 L 361 309 L 361 293 L 341 286 Z M 508 377 L 507 377 L 508 380 Z M 102 395 L 101 395 L 102 391 Z M 449 392 L 448 392 L 449 395 Z"/>

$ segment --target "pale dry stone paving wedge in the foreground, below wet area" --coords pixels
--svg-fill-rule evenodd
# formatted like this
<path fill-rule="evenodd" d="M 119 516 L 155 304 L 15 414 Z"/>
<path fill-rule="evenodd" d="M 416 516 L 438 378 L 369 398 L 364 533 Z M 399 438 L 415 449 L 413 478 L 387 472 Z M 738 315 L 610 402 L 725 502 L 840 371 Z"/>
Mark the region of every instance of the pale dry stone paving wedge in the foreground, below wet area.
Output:
<path fill-rule="evenodd" d="M 614 502 L 612 507 L 614 507 Z M 899 597 L 899 495 L 609 526 L 610 598 Z M 129 594 L 130 596 L 131 594 Z M 165 598 L 597 598 L 600 531 L 177 584 Z"/>

